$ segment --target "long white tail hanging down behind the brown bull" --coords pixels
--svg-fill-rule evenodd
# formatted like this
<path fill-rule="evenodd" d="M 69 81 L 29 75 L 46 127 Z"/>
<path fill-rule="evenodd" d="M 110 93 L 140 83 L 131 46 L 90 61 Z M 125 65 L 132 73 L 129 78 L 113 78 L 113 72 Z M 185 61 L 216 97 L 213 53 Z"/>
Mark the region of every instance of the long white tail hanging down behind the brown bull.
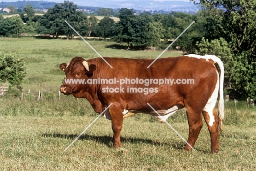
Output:
<path fill-rule="evenodd" d="M 218 104 L 218 113 L 219 113 L 219 134 L 223 131 L 223 122 L 224 122 L 224 98 L 223 98 L 223 82 L 224 82 L 224 66 L 220 58 L 216 58 L 215 61 L 220 68 L 220 78 L 219 78 L 219 104 Z"/>

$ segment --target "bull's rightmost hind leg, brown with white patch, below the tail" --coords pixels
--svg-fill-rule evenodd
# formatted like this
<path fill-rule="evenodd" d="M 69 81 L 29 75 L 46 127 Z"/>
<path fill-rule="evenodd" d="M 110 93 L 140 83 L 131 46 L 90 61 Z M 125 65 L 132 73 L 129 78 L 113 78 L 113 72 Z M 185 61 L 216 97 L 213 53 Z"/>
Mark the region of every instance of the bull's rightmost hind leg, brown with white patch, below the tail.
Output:
<path fill-rule="evenodd" d="M 217 153 L 219 151 L 219 117 L 216 113 L 216 109 L 213 109 L 212 114 L 208 114 L 206 111 L 202 111 L 202 114 L 203 117 L 205 118 L 205 122 L 207 123 L 208 130 L 211 135 L 211 152 L 212 154 Z M 212 116 L 210 117 L 210 115 Z"/>

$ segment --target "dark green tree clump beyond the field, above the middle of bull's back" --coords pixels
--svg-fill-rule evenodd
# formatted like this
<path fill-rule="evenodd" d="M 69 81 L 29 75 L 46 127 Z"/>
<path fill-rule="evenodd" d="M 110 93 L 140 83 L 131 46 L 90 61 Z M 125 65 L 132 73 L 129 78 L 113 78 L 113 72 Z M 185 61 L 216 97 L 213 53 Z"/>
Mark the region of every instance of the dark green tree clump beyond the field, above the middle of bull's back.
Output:
<path fill-rule="evenodd" d="M 147 46 L 159 46 L 160 39 L 164 38 L 160 15 L 152 16 L 150 13 L 135 15 L 132 9 L 120 9 L 120 21 L 113 28 L 113 38 L 117 43 L 127 43 L 129 48 L 136 49 Z"/>

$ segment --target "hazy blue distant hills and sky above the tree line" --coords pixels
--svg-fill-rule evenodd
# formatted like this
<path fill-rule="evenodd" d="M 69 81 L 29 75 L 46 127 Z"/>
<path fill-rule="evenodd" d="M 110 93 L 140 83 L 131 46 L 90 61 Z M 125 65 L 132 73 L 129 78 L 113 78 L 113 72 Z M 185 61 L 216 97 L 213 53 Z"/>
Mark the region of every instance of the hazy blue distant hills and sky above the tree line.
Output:
<path fill-rule="evenodd" d="M 15 8 L 23 9 L 27 4 L 32 4 L 36 9 L 49 9 L 54 7 L 56 2 L 45 1 L 17 1 L 17 2 L 0 2 L 0 8 L 7 8 L 13 5 Z M 135 11 L 149 11 L 152 13 L 170 13 L 171 11 L 182 11 L 185 13 L 196 13 L 196 5 L 190 2 L 181 1 L 80 1 L 78 8 L 86 9 L 94 13 L 98 8 L 112 8 L 117 11 L 120 8 L 129 8 Z"/>

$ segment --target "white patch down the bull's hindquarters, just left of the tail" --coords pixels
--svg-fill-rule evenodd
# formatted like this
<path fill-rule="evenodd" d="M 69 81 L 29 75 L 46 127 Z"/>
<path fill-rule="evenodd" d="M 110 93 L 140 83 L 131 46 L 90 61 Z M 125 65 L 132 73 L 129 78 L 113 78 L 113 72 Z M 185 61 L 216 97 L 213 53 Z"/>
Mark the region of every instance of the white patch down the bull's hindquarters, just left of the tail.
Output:
<path fill-rule="evenodd" d="M 208 99 L 208 102 L 205 105 L 205 108 L 203 108 L 203 111 L 206 111 L 210 117 L 210 121 L 208 123 L 209 126 L 213 126 L 213 122 L 215 121 L 214 115 L 213 115 L 213 109 L 215 108 L 215 105 L 217 102 L 218 91 L 219 91 L 219 73 L 217 72 L 217 83 L 216 83 L 215 89 L 210 99 Z"/>

